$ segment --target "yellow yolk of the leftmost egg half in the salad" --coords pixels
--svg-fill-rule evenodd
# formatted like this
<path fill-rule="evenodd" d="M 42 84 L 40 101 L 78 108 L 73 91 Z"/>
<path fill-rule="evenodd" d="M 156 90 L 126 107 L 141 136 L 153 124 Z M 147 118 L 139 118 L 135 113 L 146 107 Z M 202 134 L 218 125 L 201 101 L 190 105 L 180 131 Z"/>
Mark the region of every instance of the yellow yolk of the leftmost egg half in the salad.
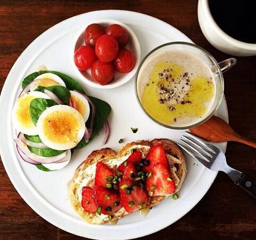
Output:
<path fill-rule="evenodd" d="M 16 118 L 20 124 L 25 128 L 35 127 L 34 123 L 30 119 L 29 105 L 34 99 L 34 96 L 24 96 L 19 99 L 18 108 L 16 110 Z"/>

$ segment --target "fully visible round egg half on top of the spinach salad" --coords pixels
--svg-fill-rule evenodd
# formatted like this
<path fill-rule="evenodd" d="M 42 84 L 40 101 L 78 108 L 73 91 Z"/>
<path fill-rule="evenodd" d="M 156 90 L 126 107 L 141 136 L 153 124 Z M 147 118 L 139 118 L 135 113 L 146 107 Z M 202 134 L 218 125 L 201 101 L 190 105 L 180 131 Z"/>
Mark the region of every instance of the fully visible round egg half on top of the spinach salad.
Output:
<path fill-rule="evenodd" d="M 82 115 L 67 105 L 48 107 L 40 115 L 36 128 L 42 142 L 55 150 L 75 147 L 86 129 Z"/>

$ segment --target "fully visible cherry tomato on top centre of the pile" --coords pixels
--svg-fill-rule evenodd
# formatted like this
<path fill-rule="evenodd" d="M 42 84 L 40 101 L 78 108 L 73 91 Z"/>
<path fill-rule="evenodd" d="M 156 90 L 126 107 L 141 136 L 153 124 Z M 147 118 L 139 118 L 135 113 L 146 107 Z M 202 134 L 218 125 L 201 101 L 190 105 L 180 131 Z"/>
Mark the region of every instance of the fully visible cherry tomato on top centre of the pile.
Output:
<path fill-rule="evenodd" d="M 102 62 L 111 62 L 118 54 L 118 42 L 110 35 L 100 36 L 95 45 L 95 53 Z"/>

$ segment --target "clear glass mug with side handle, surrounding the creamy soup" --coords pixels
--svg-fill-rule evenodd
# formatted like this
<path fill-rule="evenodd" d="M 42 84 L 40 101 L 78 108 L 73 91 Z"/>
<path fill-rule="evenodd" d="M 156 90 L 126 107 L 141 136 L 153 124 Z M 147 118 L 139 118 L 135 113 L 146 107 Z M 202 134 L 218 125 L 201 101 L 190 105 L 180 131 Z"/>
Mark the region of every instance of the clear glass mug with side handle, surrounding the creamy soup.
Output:
<path fill-rule="evenodd" d="M 141 69 L 155 56 L 158 56 L 159 54 L 166 51 L 170 51 L 170 50 L 185 51 L 185 52 L 189 52 L 196 55 L 209 66 L 210 71 L 213 73 L 215 87 L 216 87 L 216 93 L 215 93 L 213 104 L 210 107 L 207 114 L 205 114 L 204 117 L 200 119 L 200 121 L 193 123 L 192 125 L 179 127 L 179 126 L 170 126 L 162 122 L 159 122 L 158 120 L 154 119 L 153 117 L 151 117 L 150 114 L 147 113 L 147 111 L 143 107 L 141 99 L 139 98 L 139 94 L 138 94 L 139 80 L 138 79 L 141 75 Z M 138 70 L 136 72 L 136 78 L 135 78 L 135 92 L 136 92 L 137 100 L 139 102 L 139 105 L 142 107 L 142 110 L 146 113 L 146 115 L 149 118 L 151 118 L 153 121 L 155 121 L 156 123 L 159 123 L 164 127 L 167 127 L 170 129 L 187 129 L 187 128 L 193 128 L 193 127 L 199 126 L 203 122 L 211 118 L 212 115 L 217 111 L 221 103 L 222 97 L 224 95 L 224 78 L 222 73 L 232 68 L 235 64 L 236 64 L 236 59 L 234 58 L 230 58 L 218 63 L 209 52 L 207 52 L 205 49 L 195 44 L 186 43 L 186 42 L 171 42 L 171 43 L 160 45 L 154 48 L 150 53 L 148 53 L 138 67 Z"/>

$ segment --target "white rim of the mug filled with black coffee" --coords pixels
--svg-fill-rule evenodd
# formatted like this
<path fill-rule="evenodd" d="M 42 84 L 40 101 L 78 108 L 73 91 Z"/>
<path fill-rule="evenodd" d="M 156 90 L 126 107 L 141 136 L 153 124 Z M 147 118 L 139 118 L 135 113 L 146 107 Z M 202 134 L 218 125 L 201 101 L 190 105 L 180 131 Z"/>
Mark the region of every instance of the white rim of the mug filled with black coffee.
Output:
<path fill-rule="evenodd" d="M 204 10 L 203 12 L 205 14 L 208 14 L 208 18 L 210 19 L 209 22 L 212 24 L 213 29 L 215 29 L 217 31 L 217 33 L 219 35 L 221 35 L 222 38 L 224 38 L 227 42 L 232 43 L 234 46 L 241 47 L 246 50 L 252 50 L 252 51 L 256 50 L 256 43 L 255 44 L 254 43 L 245 43 L 240 40 L 237 40 L 237 39 L 229 36 L 228 34 L 226 34 L 226 32 L 223 31 L 218 26 L 218 24 L 213 19 L 213 16 L 211 14 L 210 7 L 209 7 L 209 0 L 201 0 L 201 3 L 202 3 L 203 10 Z"/>

